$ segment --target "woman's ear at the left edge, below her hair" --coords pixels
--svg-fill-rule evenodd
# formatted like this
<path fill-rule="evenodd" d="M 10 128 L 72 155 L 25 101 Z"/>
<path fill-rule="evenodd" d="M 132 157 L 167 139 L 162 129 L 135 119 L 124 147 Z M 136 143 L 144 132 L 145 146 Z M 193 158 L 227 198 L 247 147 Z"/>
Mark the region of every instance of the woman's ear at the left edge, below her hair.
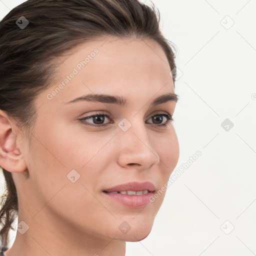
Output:
<path fill-rule="evenodd" d="M 0 166 L 10 172 L 21 172 L 27 168 L 19 148 L 17 130 L 8 114 L 0 109 Z"/>

